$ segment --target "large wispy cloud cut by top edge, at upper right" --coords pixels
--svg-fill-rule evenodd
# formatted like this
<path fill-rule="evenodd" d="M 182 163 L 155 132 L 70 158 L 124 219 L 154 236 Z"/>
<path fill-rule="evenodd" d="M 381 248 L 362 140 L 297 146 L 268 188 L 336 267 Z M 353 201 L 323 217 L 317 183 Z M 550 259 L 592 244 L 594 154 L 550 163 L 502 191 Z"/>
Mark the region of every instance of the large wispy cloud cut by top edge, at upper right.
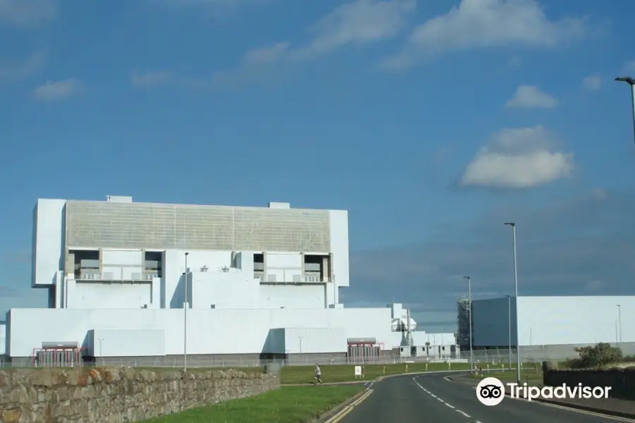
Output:
<path fill-rule="evenodd" d="M 383 68 L 410 66 L 422 54 L 488 47 L 554 48 L 586 35 L 582 18 L 550 20 L 535 0 L 462 0 L 412 32 L 406 48 Z"/>

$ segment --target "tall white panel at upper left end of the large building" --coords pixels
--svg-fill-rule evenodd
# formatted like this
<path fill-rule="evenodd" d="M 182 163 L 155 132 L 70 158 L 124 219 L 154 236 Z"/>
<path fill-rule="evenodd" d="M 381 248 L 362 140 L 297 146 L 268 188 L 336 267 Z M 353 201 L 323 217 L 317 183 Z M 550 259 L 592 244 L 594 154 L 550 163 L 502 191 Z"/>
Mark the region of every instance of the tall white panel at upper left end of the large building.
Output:
<path fill-rule="evenodd" d="M 63 210 L 66 200 L 37 200 L 34 209 L 35 247 L 32 286 L 50 286 L 61 268 L 64 243 Z"/>

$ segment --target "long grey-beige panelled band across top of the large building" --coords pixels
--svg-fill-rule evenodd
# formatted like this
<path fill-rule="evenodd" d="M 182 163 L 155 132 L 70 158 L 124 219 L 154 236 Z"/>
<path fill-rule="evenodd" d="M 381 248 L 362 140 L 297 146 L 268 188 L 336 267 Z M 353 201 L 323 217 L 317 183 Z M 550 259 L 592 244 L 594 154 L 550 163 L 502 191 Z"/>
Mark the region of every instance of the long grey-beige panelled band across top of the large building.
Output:
<path fill-rule="evenodd" d="M 68 201 L 66 245 L 330 252 L 329 212 Z"/>

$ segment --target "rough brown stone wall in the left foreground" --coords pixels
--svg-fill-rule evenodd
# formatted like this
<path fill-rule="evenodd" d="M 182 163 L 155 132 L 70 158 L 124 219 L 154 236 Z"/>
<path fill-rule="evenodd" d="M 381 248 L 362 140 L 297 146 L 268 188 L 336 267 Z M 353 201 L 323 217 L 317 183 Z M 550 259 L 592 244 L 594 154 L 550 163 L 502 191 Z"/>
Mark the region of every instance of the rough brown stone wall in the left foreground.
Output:
<path fill-rule="evenodd" d="M 277 389 L 275 374 L 134 367 L 0 370 L 0 423 L 138 422 Z"/>

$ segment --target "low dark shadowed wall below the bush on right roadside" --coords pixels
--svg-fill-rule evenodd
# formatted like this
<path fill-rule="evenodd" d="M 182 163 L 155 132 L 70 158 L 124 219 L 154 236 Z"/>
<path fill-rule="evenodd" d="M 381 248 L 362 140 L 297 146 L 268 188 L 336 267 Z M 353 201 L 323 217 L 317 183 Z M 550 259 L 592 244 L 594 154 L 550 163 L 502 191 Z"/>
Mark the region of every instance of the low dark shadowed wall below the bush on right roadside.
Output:
<path fill-rule="evenodd" d="M 543 363 L 545 386 L 610 386 L 609 396 L 622 400 L 635 400 L 635 369 L 583 369 L 557 370 Z"/>

